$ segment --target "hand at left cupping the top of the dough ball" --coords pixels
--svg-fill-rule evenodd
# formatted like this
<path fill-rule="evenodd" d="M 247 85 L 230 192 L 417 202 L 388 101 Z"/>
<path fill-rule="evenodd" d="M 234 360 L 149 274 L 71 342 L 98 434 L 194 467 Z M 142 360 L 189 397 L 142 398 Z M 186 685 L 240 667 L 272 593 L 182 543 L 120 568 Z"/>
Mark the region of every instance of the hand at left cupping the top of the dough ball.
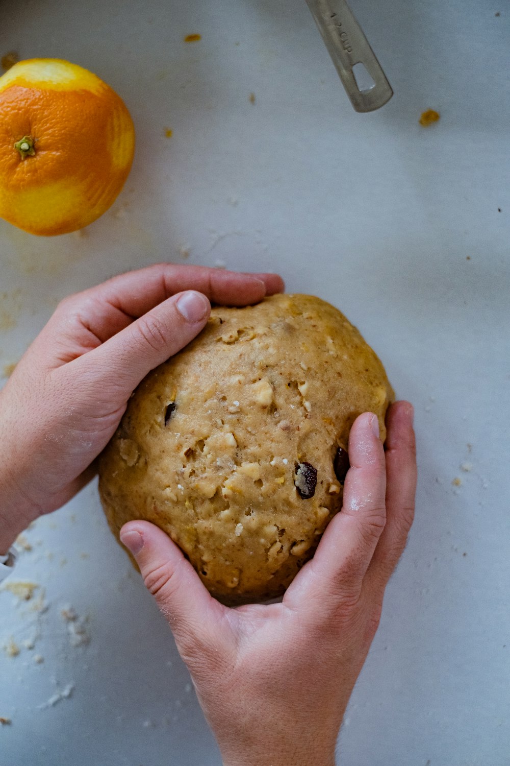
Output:
<path fill-rule="evenodd" d="M 0 392 L 0 554 L 90 480 L 133 389 L 198 335 L 210 300 L 282 289 L 274 274 L 160 264 L 63 300 Z"/>

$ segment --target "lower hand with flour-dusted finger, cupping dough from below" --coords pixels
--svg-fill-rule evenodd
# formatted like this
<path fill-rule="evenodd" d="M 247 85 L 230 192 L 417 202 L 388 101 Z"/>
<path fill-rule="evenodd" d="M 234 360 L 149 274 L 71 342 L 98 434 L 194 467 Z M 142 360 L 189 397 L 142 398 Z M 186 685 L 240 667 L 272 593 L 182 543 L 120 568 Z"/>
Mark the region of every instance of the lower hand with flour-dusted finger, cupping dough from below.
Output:
<path fill-rule="evenodd" d="M 343 509 L 281 604 L 224 607 L 161 529 L 122 528 L 226 766 L 333 766 L 343 713 L 413 519 L 412 418 L 411 404 L 391 406 L 386 452 L 377 417 L 357 418 Z"/>

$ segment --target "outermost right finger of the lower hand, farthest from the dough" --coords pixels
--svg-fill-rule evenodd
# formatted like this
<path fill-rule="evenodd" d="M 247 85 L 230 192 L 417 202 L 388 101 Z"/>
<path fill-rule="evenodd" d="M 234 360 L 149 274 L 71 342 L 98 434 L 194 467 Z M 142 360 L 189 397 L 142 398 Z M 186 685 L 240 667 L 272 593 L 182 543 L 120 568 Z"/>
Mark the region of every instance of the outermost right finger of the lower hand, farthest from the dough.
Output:
<path fill-rule="evenodd" d="M 375 549 L 369 578 L 383 586 L 398 564 L 414 519 L 417 467 L 413 407 L 408 401 L 391 404 L 386 416 L 386 526 Z"/>

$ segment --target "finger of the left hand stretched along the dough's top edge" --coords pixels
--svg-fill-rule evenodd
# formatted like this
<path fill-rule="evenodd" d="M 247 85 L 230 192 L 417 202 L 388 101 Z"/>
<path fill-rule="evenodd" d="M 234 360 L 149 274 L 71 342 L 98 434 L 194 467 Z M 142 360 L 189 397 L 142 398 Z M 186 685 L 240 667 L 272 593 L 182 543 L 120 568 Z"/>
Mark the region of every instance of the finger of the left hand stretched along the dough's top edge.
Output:
<path fill-rule="evenodd" d="M 113 277 L 98 286 L 63 300 L 50 320 L 53 334 L 80 323 L 90 336 L 89 348 L 120 332 L 134 319 L 143 316 L 171 296 L 184 290 L 197 290 L 213 303 L 246 306 L 284 288 L 277 274 L 242 274 L 202 266 L 156 264 Z"/>

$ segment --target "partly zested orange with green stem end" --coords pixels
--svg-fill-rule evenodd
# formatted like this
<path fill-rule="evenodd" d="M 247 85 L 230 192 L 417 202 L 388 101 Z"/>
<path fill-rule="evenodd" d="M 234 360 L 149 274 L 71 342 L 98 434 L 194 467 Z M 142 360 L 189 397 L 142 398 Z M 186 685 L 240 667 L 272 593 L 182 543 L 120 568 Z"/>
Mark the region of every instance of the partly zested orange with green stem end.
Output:
<path fill-rule="evenodd" d="M 67 234 L 99 218 L 131 169 L 135 129 L 95 74 L 60 59 L 20 61 L 0 77 L 0 218 Z"/>

